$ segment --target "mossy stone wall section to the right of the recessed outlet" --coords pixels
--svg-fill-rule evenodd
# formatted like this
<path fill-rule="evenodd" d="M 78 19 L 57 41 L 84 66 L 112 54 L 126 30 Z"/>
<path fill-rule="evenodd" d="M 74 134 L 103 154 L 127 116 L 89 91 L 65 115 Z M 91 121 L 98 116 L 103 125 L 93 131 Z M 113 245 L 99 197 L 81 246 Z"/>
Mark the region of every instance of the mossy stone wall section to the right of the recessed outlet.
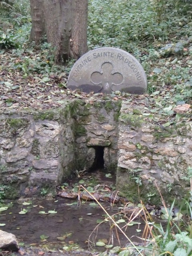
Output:
<path fill-rule="evenodd" d="M 189 190 L 192 122 L 177 122 L 171 128 L 162 126 L 165 122 L 143 106 L 122 104 L 116 185 L 130 201 L 160 201 L 158 190 L 165 200 L 172 200 Z"/>

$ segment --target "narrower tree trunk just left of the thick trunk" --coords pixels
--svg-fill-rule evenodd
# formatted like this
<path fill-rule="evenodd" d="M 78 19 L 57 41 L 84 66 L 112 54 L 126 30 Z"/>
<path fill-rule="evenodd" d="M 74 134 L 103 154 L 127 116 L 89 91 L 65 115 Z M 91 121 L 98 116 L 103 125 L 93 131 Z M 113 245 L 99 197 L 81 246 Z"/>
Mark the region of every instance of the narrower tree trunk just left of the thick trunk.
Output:
<path fill-rule="evenodd" d="M 32 28 L 30 40 L 35 41 L 35 45 L 40 44 L 40 40 L 45 34 L 45 20 L 43 14 L 42 0 L 30 0 Z"/>

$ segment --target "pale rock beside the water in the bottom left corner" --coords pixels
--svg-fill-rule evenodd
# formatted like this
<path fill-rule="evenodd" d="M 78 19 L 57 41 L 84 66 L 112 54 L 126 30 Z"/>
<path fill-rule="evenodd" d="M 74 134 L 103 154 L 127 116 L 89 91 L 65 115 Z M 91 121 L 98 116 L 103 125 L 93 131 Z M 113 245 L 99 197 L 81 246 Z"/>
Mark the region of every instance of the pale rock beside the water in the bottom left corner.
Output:
<path fill-rule="evenodd" d="M 18 251 L 19 243 L 14 234 L 0 230 L 0 249 Z"/>

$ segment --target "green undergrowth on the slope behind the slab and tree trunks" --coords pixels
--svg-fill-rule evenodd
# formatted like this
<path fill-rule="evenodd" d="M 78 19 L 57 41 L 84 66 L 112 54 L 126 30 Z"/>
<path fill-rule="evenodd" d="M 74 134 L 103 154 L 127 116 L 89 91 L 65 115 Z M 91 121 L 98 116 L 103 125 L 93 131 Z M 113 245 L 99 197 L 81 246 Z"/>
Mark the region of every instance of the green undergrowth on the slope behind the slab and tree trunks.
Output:
<path fill-rule="evenodd" d="M 148 94 L 174 103 L 192 102 L 191 0 L 90 0 L 88 46 L 119 47 L 133 54 L 144 67 Z M 29 0 L 0 0 L 0 54 L 12 49 L 12 61 L 2 68 L 18 70 L 24 78 L 70 71 L 54 65 L 53 48 L 30 42 Z"/>

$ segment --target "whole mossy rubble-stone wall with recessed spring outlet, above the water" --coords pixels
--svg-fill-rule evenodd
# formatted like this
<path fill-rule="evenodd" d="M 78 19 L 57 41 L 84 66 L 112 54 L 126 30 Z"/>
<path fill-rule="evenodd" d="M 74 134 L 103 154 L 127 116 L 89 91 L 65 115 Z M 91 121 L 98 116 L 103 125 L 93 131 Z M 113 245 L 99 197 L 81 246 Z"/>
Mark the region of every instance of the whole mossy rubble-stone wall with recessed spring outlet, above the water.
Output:
<path fill-rule="evenodd" d="M 130 201 L 184 196 L 192 122 L 162 126 L 150 109 L 115 100 L 74 100 L 58 110 L 0 115 L 0 187 L 9 197 L 56 187 L 75 170 L 105 167 Z M 138 196 L 139 191 L 139 196 Z"/>

